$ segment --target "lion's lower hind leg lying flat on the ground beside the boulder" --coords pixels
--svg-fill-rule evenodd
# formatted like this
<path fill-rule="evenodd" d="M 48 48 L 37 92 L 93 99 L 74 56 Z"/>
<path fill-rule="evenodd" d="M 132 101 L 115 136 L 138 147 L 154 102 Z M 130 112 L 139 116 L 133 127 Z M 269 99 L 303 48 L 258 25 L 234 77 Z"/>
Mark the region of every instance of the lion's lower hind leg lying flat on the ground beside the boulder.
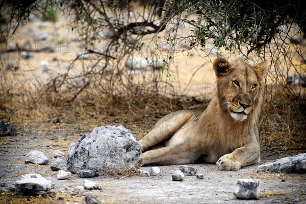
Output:
<path fill-rule="evenodd" d="M 193 155 L 189 155 L 184 151 L 184 146 L 168 146 L 160 149 L 146 151 L 143 154 L 142 165 L 172 165 L 172 164 L 190 164 L 194 163 Z"/>

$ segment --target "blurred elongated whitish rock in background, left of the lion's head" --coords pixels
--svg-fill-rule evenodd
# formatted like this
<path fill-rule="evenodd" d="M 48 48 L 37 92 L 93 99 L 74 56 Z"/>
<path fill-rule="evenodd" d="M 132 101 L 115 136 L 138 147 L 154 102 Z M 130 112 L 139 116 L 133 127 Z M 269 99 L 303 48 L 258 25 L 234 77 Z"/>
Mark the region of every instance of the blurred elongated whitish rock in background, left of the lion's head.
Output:
<path fill-rule="evenodd" d="M 130 69 L 159 69 L 165 65 L 165 60 L 162 57 L 156 55 L 149 57 L 129 57 L 126 60 L 125 66 Z"/>

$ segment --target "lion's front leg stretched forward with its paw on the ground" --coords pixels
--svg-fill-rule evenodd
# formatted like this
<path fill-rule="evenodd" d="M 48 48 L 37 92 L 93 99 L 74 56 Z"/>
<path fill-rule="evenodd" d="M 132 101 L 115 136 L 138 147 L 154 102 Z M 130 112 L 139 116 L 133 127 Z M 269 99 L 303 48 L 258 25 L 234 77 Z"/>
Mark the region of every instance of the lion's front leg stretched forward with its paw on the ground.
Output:
<path fill-rule="evenodd" d="M 238 170 L 243 166 L 260 162 L 260 147 L 258 143 L 249 143 L 235 149 L 230 154 L 221 156 L 217 165 L 222 170 Z"/>

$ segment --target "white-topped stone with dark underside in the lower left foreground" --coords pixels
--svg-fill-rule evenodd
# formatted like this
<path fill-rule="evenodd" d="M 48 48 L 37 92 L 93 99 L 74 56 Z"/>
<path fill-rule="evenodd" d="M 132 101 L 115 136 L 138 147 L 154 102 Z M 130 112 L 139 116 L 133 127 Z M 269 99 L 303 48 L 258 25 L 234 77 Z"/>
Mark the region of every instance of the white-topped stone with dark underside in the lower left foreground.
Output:
<path fill-rule="evenodd" d="M 15 188 L 26 194 L 43 194 L 54 188 L 54 184 L 42 177 L 40 174 L 25 174 L 13 185 Z"/>

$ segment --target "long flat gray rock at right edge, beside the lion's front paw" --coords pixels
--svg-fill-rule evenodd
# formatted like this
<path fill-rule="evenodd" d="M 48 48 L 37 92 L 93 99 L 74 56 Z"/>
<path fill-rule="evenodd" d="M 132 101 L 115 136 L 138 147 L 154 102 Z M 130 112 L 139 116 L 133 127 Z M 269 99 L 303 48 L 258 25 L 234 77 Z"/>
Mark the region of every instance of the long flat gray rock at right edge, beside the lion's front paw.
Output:
<path fill-rule="evenodd" d="M 273 162 L 260 165 L 257 172 L 293 173 L 305 172 L 306 153 L 279 158 Z M 299 164 L 301 163 L 301 164 Z"/>

